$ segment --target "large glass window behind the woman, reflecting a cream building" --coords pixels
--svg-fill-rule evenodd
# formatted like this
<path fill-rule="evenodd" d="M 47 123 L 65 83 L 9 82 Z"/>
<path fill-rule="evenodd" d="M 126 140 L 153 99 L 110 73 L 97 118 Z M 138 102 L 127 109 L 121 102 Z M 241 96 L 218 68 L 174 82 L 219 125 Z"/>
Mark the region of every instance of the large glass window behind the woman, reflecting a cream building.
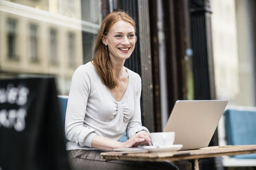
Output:
<path fill-rule="evenodd" d="M 100 0 L 0 1 L 1 77 L 54 76 L 68 95 L 75 69 L 89 62 L 100 29 Z M 19 23 L 19 25 L 18 25 Z M 19 26 L 19 27 L 18 27 Z"/>

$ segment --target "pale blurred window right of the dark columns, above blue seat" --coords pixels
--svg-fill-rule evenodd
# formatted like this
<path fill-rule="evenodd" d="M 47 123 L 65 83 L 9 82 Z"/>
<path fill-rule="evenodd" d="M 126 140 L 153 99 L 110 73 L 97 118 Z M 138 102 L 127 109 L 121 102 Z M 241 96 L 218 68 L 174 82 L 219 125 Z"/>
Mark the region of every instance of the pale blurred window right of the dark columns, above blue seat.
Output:
<path fill-rule="evenodd" d="M 256 106 L 250 25 L 254 13 L 248 4 L 248 1 L 211 1 L 216 94 L 218 99 L 228 99 L 231 106 Z"/>

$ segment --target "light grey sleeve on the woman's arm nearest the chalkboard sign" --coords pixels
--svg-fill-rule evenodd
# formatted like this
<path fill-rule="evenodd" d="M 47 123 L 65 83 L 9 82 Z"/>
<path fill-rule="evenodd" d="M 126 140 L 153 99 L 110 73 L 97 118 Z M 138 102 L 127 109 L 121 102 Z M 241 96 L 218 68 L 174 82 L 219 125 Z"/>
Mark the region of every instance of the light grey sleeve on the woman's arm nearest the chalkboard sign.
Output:
<path fill-rule="evenodd" d="M 81 147 L 92 147 L 96 130 L 84 123 L 91 80 L 85 66 L 79 66 L 72 76 L 65 117 L 66 138 Z"/>

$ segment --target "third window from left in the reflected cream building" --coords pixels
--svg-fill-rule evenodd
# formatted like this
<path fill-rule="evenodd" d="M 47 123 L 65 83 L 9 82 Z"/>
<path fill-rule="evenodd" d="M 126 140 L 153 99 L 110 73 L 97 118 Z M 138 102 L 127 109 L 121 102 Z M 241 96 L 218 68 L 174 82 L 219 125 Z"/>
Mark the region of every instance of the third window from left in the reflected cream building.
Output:
<path fill-rule="evenodd" d="M 50 29 L 50 64 L 57 64 L 57 32 Z"/>

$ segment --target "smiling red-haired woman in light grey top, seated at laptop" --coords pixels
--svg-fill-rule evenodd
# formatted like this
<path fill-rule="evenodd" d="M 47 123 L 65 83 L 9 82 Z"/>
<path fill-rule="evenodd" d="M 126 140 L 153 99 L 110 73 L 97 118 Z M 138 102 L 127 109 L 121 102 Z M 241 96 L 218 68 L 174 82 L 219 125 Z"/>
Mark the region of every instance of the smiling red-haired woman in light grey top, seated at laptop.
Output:
<path fill-rule="evenodd" d="M 101 152 L 114 148 L 151 145 L 140 118 L 140 76 L 124 66 L 134 51 L 135 34 L 136 25 L 128 14 L 112 12 L 100 27 L 94 58 L 74 72 L 65 132 L 72 165 L 78 169 L 134 169 L 145 164 L 100 158 Z M 120 143 L 125 131 L 129 139 Z"/>

